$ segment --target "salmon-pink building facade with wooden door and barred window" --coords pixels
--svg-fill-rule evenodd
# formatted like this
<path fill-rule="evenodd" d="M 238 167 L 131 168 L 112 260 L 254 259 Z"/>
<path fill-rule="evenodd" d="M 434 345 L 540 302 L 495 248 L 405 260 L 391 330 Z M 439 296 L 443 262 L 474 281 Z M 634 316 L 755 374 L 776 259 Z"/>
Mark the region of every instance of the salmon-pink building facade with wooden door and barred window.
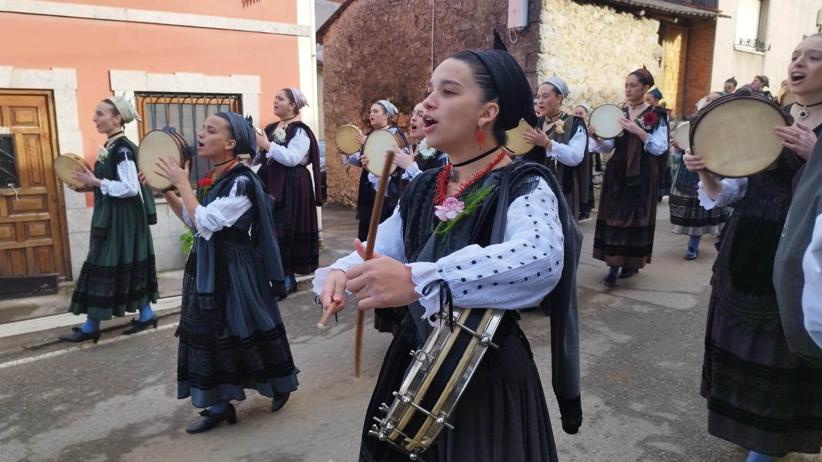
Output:
<path fill-rule="evenodd" d="M 136 142 L 167 126 L 193 143 L 218 110 L 264 126 L 288 86 L 307 95 L 302 118 L 316 126 L 314 33 L 313 2 L 302 0 L 0 2 L 0 276 L 79 274 L 92 196 L 64 187 L 52 162 L 76 153 L 95 163 L 101 99 L 132 99 Z M 207 170 L 194 164 L 192 181 Z M 183 226 L 157 202 L 157 269 L 180 268 Z"/>

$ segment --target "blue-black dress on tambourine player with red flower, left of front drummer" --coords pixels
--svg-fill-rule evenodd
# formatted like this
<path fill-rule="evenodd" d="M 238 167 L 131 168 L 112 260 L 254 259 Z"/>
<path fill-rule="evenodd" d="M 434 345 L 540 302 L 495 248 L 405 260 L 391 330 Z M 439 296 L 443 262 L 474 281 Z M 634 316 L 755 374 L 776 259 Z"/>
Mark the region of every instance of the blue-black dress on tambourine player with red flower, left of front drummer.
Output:
<path fill-rule="evenodd" d="M 201 193 L 201 191 L 200 191 Z M 274 200 L 251 169 L 220 176 L 192 219 L 195 242 L 182 280 L 177 397 L 207 408 L 297 389 L 276 296 L 284 275 L 271 219 Z"/>

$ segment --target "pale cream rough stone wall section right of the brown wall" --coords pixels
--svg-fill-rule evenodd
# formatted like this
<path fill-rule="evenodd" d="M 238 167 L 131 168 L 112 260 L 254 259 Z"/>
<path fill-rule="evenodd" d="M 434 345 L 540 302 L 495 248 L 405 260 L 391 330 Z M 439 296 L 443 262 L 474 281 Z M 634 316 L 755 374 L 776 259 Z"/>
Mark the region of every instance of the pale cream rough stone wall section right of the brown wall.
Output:
<path fill-rule="evenodd" d="M 566 81 L 566 109 L 623 101 L 625 77 L 643 65 L 661 77 L 659 21 L 570 0 L 543 0 L 541 16 L 537 73 Z"/>

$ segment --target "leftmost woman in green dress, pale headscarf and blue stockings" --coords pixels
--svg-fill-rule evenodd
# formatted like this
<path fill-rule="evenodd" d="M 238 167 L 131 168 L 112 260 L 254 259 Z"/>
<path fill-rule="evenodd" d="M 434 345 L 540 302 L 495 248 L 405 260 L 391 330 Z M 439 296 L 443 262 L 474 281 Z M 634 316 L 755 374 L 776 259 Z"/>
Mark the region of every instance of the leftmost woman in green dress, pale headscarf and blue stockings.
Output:
<path fill-rule="evenodd" d="M 85 324 L 60 340 L 83 342 L 100 338 L 100 321 L 140 310 L 125 335 L 157 326 L 149 303 L 156 303 L 157 271 L 150 224 L 157 223 L 154 194 L 137 179 L 137 146 L 122 134 L 122 126 L 140 120 L 122 96 L 99 102 L 94 122 L 109 137 L 100 148 L 94 172 L 76 173 L 78 181 L 95 193 L 91 215 L 91 243 L 77 278 L 68 311 L 86 314 Z M 72 189 L 75 189 L 72 187 Z M 75 189 L 75 191 L 81 191 Z M 141 197 L 142 196 L 142 197 Z"/>

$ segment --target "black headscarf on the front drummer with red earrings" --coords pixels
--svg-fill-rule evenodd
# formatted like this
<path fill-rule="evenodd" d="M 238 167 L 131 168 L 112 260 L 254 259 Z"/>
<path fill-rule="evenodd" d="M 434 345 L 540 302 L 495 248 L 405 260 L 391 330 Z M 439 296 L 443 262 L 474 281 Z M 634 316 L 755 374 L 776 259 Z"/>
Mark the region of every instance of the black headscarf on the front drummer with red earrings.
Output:
<path fill-rule="evenodd" d="M 520 63 L 510 53 L 501 50 L 473 51 L 483 62 L 500 95 L 500 122 L 510 130 L 525 119 L 531 127 L 537 125 L 537 113 L 533 112 L 533 91 Z"/>

